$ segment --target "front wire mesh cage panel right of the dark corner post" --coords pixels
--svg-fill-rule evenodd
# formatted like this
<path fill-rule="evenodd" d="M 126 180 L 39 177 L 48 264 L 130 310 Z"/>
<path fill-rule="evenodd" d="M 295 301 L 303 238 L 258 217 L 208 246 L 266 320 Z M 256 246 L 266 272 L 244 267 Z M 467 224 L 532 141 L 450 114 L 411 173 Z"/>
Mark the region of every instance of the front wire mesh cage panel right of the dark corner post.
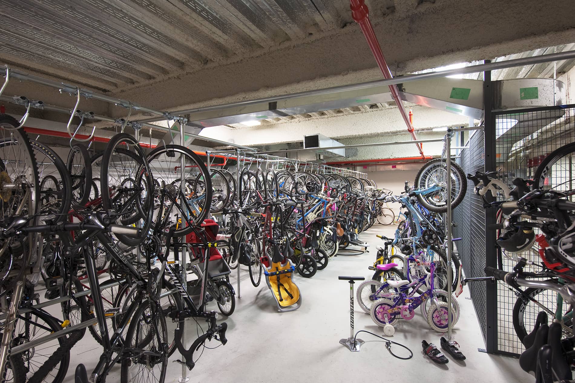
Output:
<path fill-rule="evenodd" d="M 555 149 L 575 141 L 575 107 L 546 107 L 500 111 L 493 114 L 496 127 L 496 167 L 500 179 L 510 188 L 517 177 L 533 179 L 538 166 Z M 573 157 L 568 155 L 551 165 L 541 180 L 543 189 L 573 189 Z M 493 233 L 493 232 L 490 232 Z M 536 232 L 536 234 L 538 234 Z M 490 234 L 493 235 L 493 234 Z M 521 254 L 505 254 L 500 258 L 500 267 L 511 271 L 521 256 L 540 262 L 537 248 Z M 531 266 L 533 271 L 540 270 Z M 529 291 L 550 312 L 555 311 L 556 294 L 549 291 Z M 515 323 L 513 320 L 515 310 Z M 497 285 L 497 350 L 502 353 L 520 354 L 524 347 L 517 332 L 531 332 L 539 305 L 529 300 L 518 299 L 508 285 Z"/>

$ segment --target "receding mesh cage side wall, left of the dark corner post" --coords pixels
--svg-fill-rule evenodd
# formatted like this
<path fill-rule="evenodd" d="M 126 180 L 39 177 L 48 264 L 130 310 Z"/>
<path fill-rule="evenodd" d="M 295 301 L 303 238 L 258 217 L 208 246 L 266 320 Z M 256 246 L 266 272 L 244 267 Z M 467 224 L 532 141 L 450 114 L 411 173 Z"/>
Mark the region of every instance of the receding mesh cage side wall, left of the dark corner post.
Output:
<path fill-rule="evenodd" d="M 485 138 L 482 130 L 471 132 L 469 149 L 463 149 L 457 163 L 465 173 L 475 173 L 484 170 Z M 481 198 L 473 191 L 473 183 L 467 183 L 465 198 L 453 211 L 454 237 L 461 238 L 457 242 L 457 250 L 461 257 L 463 271 L 466 277 L 484 277 L 485 268 L 485 211 Z M 486 293 L 484 283 L 474 283 L 469 287 L 471 300 L 477 314 L 483 339 L 486 339 Z"/>

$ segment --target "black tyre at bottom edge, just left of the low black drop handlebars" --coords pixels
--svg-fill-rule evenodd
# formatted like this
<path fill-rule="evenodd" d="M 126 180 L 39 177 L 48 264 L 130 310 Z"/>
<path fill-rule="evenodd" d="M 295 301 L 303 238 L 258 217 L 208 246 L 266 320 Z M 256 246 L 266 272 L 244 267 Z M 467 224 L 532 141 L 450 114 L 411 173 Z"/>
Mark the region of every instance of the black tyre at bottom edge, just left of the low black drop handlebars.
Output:
<path fill-rule="evenodd" d="M 145 342 L 141 341 L 138 338 L 141 332 L 145 331 L 143 326 L 141 326 L 140 318 L 143 319 L 144 324 L 146 322 L 155 322 L 157 320 L 158 322 L 155 323 L 155 326 L 150 327 L 154 329 L 154 332 L 156 332 L 157 329 L 157 332 L 155 334 L 154 333 L 151 334 L 152 338 L 157 338 L 155 339 L 156 342 L 152 345 L 152 350 L 155 350 L 156 353 L 160 354 L 160 356 L 157 357 L 158 359 L 154 359 L 154 361 L 152 361 L 151 355 L 147 355 L 147 357 L 145 357 L 144 359 L 139 359 L 141 355 L 135 355 L 135 356 L 127 355 L 127 357 L 122 357 L 121 376 L 120 376 L 122 383 L 128 383 L 129 381 L 131 381 L 129 375 L 132 374 L 130 374 L 129 367 L 131 367 L 136 362 L 138 364 L 145 366 L 144 370 L 147 370 L 148 375 L 152 374 L 151 375 L 153 378 L 152 380 L 163 382 L 166 379 L 166 370 L 168 364 L 167 350 L 164 350 L 164 345 L 167 343 L 166 320 L 163 315 L 156 314 L 158 311 L 157 306 L 158 304 L 150 300 L 146 300 L 139 305 L 139 307 L 136 309 L 135 314 L 132 317 L 130 326 L 128 327 L 128 332 L 125 338 L 125 345 L 127 345 L 127 347 L 131 350 L 150 345 L 152 343 L 152 339 L 148 339 L 150 338 L 149 336 L 145 336 L 143 338 L 146 340 Z M 147 312 L 147 310 L 149 310 L 149 313 Z M 162 308 L 160 307 L 159 310 L 162 310 Z M 148 329 L 148 331 L 150 331 L 150 329 Z M 140 343 L 145 344 L 140 344 L 139 341 Z M 133 351 L 131 351 L 131 353 L 133 353 Z M 145 364 L 141 363 L 141 361 L 145 361 Z M 155 363 L 156 361 L 162 363 L 159 373 L 154 371 L 154 367 L 158 365 L 158 363 Z M 145 373 L 145 371 L 143 373 Z"/>

